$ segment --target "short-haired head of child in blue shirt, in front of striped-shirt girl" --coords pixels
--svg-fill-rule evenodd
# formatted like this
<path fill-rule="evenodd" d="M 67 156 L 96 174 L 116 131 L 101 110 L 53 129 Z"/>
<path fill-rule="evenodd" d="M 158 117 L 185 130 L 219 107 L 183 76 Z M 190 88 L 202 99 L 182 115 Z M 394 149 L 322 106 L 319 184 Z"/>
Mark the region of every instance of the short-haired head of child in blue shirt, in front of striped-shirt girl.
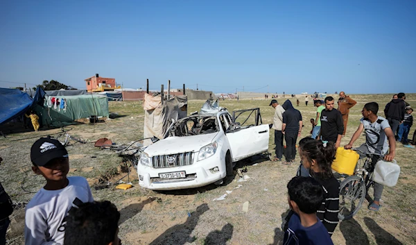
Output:
<path fill-rule="evenodd" d="M 324 200 L 322 186 L 311 177 L 297 176 L 288 183 L 288 203 L 299 214 L 314 214 Z"/>

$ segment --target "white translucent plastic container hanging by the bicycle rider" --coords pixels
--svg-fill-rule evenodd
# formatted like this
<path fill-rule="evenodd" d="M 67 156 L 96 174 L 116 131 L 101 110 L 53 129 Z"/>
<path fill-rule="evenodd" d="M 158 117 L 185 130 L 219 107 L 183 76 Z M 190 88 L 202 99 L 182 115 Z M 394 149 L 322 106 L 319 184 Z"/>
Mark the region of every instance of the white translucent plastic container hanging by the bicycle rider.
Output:
<path fill-rule="evenodd" d="M 396 160 L 387 162 L 385 160 L 379 160 L 374 169 L 373 180 L 384 186 L 393 187 L 397 184 L 399 179 L 400 166 Z"/>

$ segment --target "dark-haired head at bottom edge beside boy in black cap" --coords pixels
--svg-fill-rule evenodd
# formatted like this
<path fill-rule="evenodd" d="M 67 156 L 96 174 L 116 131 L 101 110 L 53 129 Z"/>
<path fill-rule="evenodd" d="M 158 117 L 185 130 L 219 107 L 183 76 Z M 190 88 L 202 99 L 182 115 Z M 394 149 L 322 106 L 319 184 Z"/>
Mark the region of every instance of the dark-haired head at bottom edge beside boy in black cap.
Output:
<path fill-rule="evenodd" d="M 71 208 L 65 226 L 64 245 L 119 245 L 120 212 L 110 201 L 83 203 Z"/>

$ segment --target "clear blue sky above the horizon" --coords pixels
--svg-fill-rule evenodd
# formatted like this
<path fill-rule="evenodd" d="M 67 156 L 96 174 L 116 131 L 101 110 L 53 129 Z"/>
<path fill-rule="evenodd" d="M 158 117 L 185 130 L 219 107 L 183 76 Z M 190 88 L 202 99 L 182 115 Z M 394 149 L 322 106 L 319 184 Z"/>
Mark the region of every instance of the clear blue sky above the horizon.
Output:
<path fill-rule="evenodd" d="M 416 1 L 1 1 L 0 87 L 416 92 Z"/>

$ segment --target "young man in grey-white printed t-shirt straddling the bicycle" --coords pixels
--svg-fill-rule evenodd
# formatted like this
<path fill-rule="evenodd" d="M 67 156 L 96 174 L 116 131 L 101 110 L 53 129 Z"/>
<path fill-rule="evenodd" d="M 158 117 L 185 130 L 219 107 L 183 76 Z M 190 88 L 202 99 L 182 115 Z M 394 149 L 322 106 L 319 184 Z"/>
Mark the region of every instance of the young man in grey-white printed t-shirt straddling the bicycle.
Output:
<path fill-rule="evenodd" d="M 396 140 L 388 120 L 377 116 L 379 111 L 379 104 L 375 102 L 366 103 L 361 114 L 363 118 L 360 120 L 361 124 L 358 126 L 356 133 L 352 135 L 351 140 L 345 149 L 351 149 L 352 144 L 360 137 L 363 130 L 365 130 L 365 144 L 358 147 L 360 158 L 365 157 L 365 154 L 374 154 L 372 163 L 376 164 L 380 157 L 384 156 L 384 160 L 391 161 L 395 158 Z M 388 151 L 390 148 L 390 151 Z M 386 153 L 388 154 L 386 155 Z M 368 206 L 369 210 L 379 211 L 380 198 L 383 193 L 383 185 L 374 183 L 374 201 Z"/>

